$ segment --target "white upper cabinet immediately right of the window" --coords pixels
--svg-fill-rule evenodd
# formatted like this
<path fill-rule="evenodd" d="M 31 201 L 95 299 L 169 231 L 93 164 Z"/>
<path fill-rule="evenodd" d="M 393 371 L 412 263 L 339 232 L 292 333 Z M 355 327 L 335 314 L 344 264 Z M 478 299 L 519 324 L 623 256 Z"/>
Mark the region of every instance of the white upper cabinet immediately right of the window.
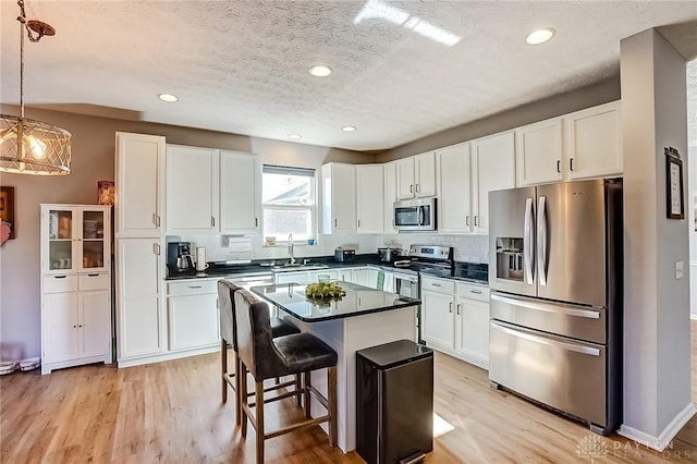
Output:
<path fill-rule="evenodd" d="M 356 231 L 356 167 L 322 166 L 322 233 Z"/>

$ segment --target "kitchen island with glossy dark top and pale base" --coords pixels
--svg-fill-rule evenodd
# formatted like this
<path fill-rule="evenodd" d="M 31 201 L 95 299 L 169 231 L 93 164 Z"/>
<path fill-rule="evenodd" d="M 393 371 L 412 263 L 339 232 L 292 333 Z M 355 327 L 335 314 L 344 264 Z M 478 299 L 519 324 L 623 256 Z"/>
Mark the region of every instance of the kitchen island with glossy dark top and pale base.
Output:
<path fill-rule="evenodd" d="M 415 341 L 420 301 L 355 283 L 337 283 L 346 294 L 340 301 L 319 304 L 305 296 L 307 285 L 296 283 L 253 286 L 252 292 L 288 313 L 302 331 L 337 352 L 338 445 L 348 452 L 356 448 L 356 351 L 396 340 Z M 323 370 L 314 371 L 311 381 L 327 395 Z M 323 414 L 314 399 L 313 412 L 314 416 Z"/>

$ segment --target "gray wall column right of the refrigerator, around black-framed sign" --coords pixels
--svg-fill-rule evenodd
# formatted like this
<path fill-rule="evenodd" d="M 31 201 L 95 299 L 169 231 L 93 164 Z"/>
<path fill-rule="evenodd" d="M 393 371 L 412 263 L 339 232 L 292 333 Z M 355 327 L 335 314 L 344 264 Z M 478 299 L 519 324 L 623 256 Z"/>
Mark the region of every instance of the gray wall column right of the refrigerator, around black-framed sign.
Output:
<path fill-rule="evenodd" d="M 675 147 L 685 163 L 683 175 L 687 175 L 685 60 L 650 29 L 622 40 L 621 65 L 625 187 L 622 434 L 661 448 L 667 443 L 659 441 L 677 431 L 671 427 L 682 426 L 683 416 L 692 413 L 688 223 L 667 219 L 663 156 L 663 147 Z M 680 280 L 676 261 L 685 267 Z"/>

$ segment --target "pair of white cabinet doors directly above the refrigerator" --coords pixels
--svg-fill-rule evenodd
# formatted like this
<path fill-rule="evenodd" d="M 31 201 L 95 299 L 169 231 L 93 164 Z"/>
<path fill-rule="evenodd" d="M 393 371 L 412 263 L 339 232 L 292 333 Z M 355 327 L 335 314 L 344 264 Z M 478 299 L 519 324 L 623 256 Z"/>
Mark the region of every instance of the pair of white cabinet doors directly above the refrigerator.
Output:
<path fill-rule="evenodd" d="M 620 102 L 515 131 L 518 186 L 622 174 Z"/>

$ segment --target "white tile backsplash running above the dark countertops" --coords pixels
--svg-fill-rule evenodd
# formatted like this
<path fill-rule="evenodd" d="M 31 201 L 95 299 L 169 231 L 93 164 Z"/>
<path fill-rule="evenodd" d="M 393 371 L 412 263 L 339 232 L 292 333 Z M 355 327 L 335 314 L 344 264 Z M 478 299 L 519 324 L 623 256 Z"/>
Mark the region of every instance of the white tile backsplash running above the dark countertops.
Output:
<path fill-rule="evenodd" d="M 261 235 L 227 236 L 227 235 L 168 235 L 168 242 L 191 242 L 192 251 L 196 246 L 205 246 L 208 261 L 230 259 L 286 259 L 288 246 L 264 246 Z M 425 233 L 402 234 L 337 234 L 319 235 L 315 245 L 295 245 L 295 257 L 313 257 L 333 255 L 337 246 L 352 246 L 356 253 L 377 253 L 379 246 L 400 246 L 407 248 L 412 244 L 452 246 L 455 260 L 465 262 L 489 261 L 488 235 L 440 235 Z M 247 253 L 250 249 L 252 253 Z"/>

